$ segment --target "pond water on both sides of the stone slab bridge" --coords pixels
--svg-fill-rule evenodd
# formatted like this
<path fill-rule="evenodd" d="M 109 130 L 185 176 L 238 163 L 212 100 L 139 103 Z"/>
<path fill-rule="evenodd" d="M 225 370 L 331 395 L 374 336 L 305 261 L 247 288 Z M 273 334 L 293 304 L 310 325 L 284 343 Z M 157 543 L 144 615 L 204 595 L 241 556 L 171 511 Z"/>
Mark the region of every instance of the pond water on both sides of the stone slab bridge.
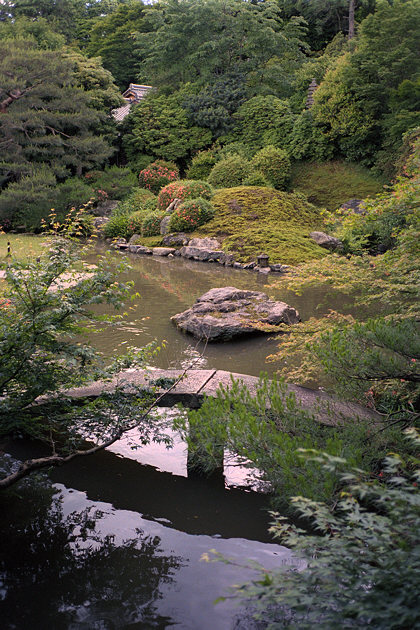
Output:
<path fill-rule="evenodd" d="M 119 254 L 115 254 L 118 259 Z M 92 259 L 94 261 L 94 259 Z M 126 346 L 167 341 L 159 367 L 218 368 L 258 375 L 276 366 L 265 358 L 278 341 L 255 337 L 200 344 L 180 333 L 170 316 L 216 286 L 263 290 L 298 308 L 302 318 L 337 306 L 335 296 L 313 290 L 291 296 L 256 273 L 183 259 L 130 257 L 141 299 L 121 328 L 92 334 L 107 356 Z M 334 303 L 335 300 L 335 303 Z M 135 439 L 135 436 L 132 436 Z M 5 447 L 6 448 L 6 447 Z M 30 457 L 34 445 L 7 450 Z M 254 490 L 244 470 L 188 477 L 184 445 L 132 451 L 122 440 L 111 450 L 53 470 L 51 482 L 26 483 L 0 503 L 0 619 L 7 630 L 255 630 L 245 605 L 214 605 L 232 584 L 253 577 L 238 566 L 247 559 L 267 567 L 290 565 L 290 551 L 268 533 L 268 498 Z M 51 483 L 53 485 L 51 485 Z M 7 509 L 5 509 L 7 505 Z M 215 549 L 236 565 L 200 561 Z"/>

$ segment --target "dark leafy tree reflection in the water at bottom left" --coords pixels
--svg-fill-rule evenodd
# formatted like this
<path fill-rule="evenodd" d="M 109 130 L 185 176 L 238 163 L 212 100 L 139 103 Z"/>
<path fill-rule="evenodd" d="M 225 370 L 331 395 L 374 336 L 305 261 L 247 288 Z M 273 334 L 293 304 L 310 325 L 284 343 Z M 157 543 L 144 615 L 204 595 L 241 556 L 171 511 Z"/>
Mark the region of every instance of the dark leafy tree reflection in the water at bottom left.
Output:
<path fill-rule="evenodd" d="M 79 504 L 77 511 L 65 514 L 65 492 L 35 494 L 32 488 L 25 497 L 25 515 L 19 514 L 18 500 L 2 518 L 3 629 L 172 625 L 157 613 L 156 604 L 162 584 L 172 581 L 182 562 L 164 553 L 159 536 L 136 528 L 130 538 L 118 539 L 101 532 L 103 509 Z M 66 507 L 68 511 L 68 501 Z"/>

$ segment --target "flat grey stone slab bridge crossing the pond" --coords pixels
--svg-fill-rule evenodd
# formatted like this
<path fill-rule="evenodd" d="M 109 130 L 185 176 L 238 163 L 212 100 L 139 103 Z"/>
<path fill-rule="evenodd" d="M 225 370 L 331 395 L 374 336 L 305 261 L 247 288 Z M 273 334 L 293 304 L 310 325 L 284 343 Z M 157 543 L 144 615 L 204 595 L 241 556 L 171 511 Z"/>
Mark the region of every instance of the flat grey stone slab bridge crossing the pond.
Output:
<path fill-rule="evenodd" d="M 95 382 L 85 387 L 72 389 L 67 392 L 72 398 L 95 398 L 103 391 L 112 391 L 117 385 L 129 387 L 134 385 L 144 389 L 151 389 L 157 396 L 163 394 L 159 401 L 161 407 L 172 407 L 177 403 L 182 403 L 185 407 L 198 408 L 203 402 L 204 396 L 216 396 L 220 385 L 228 388 L 232 385 L 232 379 L 245 385 L 251 394 L 255 394 L 259 382 L 258 377 L 247 374 L 237 374 L 224 370 L 188 370 L 182 380 L 165 393 L 167 387 L 159 386 L 163 384 L 163 379 L 170 379 L 168 382 L 175 382 L 184 370 L 164 370 L 159 368 L 149 368 L 147 370 L 126 370 L 122 372 L 118 379 L 109 382 Z M 294 392 L 296 399 L 304 408 L 315 413 L 320 421 L 330 424 L 333 418 L 371 418 L 380 420 L 380 416 L 374 411 L 361 405 L 347 403 L 336 400 L 332 396 L 321 390 L 312 390 L 299 385 L 287 384 L 287 390 Z"/>

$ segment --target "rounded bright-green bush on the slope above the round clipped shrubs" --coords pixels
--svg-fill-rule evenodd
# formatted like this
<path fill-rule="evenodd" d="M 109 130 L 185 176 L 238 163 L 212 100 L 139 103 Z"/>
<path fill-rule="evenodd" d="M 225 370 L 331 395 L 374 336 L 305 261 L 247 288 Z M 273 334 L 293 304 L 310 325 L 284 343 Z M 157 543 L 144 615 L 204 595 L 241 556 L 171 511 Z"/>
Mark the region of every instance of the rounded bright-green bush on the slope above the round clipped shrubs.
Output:
<path fill-rule="evenodd" d="M 253 152 L 267 145 L 287 148 L 294 115 L 285 100 L 275 96 L 255 96 L 235 114 L 234 136 Z"/>

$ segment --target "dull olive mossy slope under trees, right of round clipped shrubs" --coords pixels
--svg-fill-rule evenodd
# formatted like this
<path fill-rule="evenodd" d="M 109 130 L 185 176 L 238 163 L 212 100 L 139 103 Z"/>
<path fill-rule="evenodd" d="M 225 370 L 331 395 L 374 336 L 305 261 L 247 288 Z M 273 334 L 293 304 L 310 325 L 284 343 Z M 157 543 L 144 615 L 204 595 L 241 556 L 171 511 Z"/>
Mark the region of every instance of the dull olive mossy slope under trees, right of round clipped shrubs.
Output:
<path fill-rule="evenodd" d="M 367 168 L 349 162 L 298 162 L 292 167 L 290 190 L 304 193 L 320 208 L 335 210 L 349 199 L 376 195 L 384 183 Z"/>

